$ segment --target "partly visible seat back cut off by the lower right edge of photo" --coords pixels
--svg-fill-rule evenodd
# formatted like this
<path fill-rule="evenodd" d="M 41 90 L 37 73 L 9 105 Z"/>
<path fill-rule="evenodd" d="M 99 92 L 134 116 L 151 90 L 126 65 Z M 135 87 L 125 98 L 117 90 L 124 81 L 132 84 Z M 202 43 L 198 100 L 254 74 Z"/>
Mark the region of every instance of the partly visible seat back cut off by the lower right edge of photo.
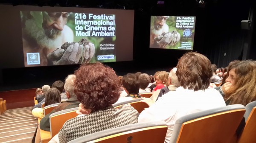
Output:
<path fill-rule="evenodd" d="M 238 143 L 256 143 L 256 101 L 247 104 L 245 109 L 244 118 L 246 122 L 238 138 Z"/>

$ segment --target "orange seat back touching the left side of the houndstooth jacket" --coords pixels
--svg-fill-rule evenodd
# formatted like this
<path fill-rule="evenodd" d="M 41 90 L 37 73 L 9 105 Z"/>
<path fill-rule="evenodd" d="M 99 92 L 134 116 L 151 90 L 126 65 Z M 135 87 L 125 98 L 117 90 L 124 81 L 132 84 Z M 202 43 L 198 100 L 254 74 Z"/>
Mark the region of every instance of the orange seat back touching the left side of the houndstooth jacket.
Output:
<path fill-rule="evenodd" d="M 58 134 L 58 132 L 61 130 L 62 126 L 67 120 L 75 118 L 77 116 L 76 110 L 78 110 L 78 107 L 61 110 L 52 113 L 49 116 L 51 137 L 54 137 L 56 134 Z"/>

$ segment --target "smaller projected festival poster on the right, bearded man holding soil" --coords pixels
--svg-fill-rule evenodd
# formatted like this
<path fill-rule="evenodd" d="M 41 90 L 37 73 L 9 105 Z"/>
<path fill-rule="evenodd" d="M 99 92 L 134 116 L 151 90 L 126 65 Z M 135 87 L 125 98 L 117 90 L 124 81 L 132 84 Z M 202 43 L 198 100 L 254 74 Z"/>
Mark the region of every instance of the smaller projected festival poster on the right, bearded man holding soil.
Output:
<path fill-rule="evenodd" d="M 150 48 L 193 50 L 195 17 L 151 16 Z"/>

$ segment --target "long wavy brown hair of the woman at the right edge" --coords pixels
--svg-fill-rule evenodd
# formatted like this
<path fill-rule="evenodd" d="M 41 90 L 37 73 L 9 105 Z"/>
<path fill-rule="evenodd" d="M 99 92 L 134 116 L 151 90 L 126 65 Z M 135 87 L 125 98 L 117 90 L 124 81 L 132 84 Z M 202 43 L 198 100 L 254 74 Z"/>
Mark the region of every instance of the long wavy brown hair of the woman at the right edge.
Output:
<path fill-rule="evenodd" d="M 246 104 L 256 100 L 256 63 L 254 61 L 233 61 L 227 69 L 227 77 L 230 70 L 235 69 L 234 83 L 224 96 L 230 104 Z"/>

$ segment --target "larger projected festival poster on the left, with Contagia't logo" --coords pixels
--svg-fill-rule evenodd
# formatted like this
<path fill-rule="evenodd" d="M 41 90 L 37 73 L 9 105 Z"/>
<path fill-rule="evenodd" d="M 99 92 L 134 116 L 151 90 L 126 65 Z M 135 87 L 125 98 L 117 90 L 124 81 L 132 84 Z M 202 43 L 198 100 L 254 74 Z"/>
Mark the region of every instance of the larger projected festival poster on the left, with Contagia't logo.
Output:
<path fill-rule="evenodd" d="M 20 11 L 25 67 L 116 62 L 116 15 Z"/>

